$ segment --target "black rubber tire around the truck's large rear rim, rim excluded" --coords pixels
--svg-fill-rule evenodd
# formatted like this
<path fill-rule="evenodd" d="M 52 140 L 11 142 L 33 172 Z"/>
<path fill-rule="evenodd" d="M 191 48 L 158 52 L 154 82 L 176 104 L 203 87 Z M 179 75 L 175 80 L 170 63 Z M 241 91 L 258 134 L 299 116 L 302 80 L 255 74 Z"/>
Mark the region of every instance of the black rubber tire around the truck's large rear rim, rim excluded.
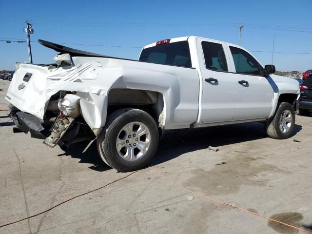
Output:
<path fill-rule="evenodd" d="M 134 161 L 122 158 L 116 148 L 119 132 L 131 122 L 143 123 L 150 133 L 148 150 Z M 139 109 L 124 108 L 108 117 L 107 124 L 97 139 L 98 153 L 110 167 L 119 172 L 131 172 L 143 168 L 152 160 L 158 147 L 158 140 L 158 129 L 153 117 Z"/>

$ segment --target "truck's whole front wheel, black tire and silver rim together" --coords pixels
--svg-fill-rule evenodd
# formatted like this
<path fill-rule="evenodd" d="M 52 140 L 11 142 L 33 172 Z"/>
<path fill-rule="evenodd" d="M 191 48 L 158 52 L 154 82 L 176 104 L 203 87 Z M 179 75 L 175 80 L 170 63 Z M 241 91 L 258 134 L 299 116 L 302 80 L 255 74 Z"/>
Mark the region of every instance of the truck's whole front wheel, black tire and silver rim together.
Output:
<path fill-rule="evenodd" d="M 267 134 L 274 139 L 286 139 L 292 135 L 295 122 L 293 107 L 288 102 L 278 106 L 274 117 L 267 122 Z"/>

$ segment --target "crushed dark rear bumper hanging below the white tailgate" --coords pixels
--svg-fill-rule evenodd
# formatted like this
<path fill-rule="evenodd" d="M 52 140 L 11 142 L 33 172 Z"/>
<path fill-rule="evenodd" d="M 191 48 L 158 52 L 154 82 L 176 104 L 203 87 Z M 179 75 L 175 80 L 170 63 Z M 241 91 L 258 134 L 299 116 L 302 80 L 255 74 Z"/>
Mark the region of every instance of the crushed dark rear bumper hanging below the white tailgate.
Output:
<path fill-rule="evenodd" d="M 20 132 L 30 132 L 31 137 L 45 139 L 46 131 L 42 126 L 42 120 L 26 112 L 20 111 L 18 108 L 9 104 L 8 116 L 12 118 L 16 127 Z"/>

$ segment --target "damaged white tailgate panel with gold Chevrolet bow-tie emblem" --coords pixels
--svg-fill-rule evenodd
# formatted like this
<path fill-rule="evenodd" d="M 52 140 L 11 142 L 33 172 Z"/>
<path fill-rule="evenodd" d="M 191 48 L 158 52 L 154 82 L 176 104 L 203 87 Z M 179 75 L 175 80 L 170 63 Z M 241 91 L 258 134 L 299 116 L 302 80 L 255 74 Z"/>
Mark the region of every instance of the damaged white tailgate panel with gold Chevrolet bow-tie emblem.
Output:
<path fill-rule="evenodd" d="M 43 118 L 46 102 L 48 67 L 20 63 L 17 65 L 5 99 L 21 111 Z"/>

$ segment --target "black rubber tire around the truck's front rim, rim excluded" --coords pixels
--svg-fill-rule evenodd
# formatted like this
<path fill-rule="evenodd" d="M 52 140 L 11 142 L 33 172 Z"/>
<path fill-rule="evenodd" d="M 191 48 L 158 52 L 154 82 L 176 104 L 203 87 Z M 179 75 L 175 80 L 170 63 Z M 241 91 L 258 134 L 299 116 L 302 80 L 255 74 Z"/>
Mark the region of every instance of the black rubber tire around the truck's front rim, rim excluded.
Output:
<path fill-rule="evenodd" d="M 285 110 L 289 110 L 292 120 L 289 122 L 291 123 L 289 130 L 283 133 L 279 125 L 280 125 L 280 118 L 282 116 L 282 113 Z M 274 139 L 289 138 L 292 135 L 294 123 L 295 123 L 295 112 L 293 110 L 293 106 L 288 102 L 282 102 L 279 104 L 277 110 L 275 111 L 274 117 L 266 124 L 267 134 L 269 137 L 274 138 Z"/>

